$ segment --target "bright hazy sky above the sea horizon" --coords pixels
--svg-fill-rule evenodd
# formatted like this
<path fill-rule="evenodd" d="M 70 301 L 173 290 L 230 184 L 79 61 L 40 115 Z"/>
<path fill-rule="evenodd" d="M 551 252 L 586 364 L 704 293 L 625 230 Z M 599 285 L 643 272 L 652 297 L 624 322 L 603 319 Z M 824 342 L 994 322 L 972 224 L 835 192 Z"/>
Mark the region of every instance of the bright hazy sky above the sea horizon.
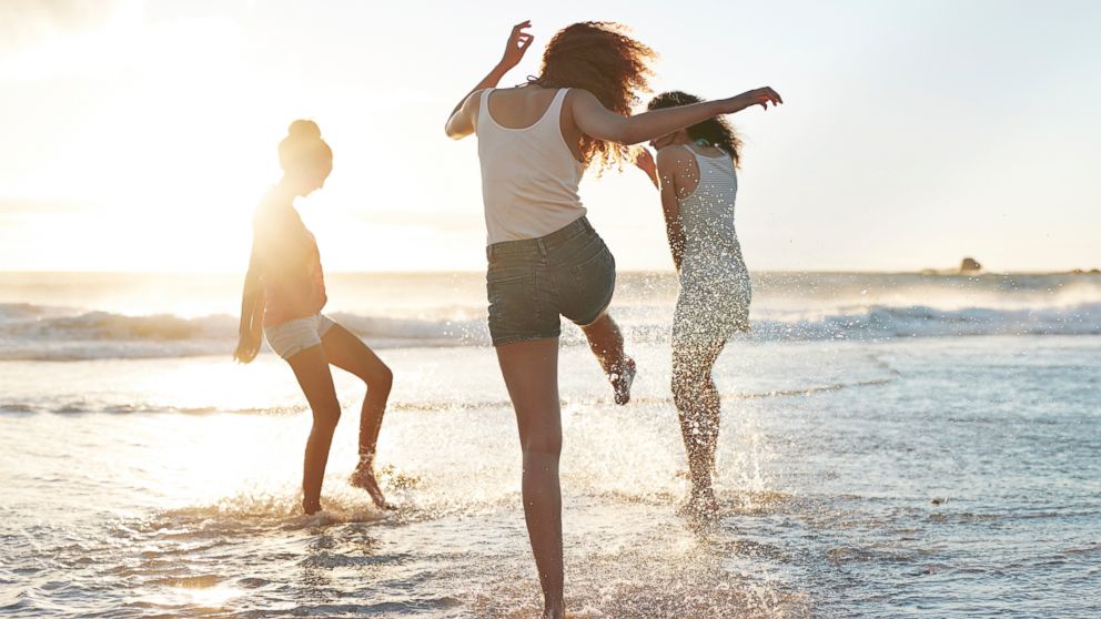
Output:
<path fill-rule="evenodd" d="M 1099 2 L 3 0 L 0 271 L 243 272 L 296 118 L 335 154 L 299 204 L 326 270 L 482 268 L 476 143 L 443 124 L 525 19 L 502 85 L 612 20 L 655 93 L 784 95 L 730 116 L 752 270 L 1101 267 Z M 640 172 L 582 197 L 619 268 L 671 270 Z"/>

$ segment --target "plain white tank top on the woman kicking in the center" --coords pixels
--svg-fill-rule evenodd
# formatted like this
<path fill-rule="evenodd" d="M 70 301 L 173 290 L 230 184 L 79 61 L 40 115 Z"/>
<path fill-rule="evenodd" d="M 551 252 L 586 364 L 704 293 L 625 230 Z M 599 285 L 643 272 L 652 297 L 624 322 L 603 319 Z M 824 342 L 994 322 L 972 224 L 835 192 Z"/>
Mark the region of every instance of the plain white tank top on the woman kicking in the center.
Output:
<path fill-rule="evenodd" d="M 558 119 L 569 89 L 560 89 L 535 124 L 501 126 L 482 92 L 476 133 L 482 161 L 486 243 L 537 239 L 585 215 L 577 195 L 585 166 L 569 152 Z"/>

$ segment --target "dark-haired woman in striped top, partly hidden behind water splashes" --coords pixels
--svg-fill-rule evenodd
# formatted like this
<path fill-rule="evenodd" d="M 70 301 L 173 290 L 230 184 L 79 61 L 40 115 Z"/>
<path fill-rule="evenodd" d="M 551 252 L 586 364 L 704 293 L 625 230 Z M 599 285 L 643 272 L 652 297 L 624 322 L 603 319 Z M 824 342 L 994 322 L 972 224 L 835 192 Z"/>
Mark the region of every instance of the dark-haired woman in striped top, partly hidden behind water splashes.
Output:
<path fill-rule="evenodd" d="M 699 103 L 684 92 L 655 97 L 649 110 Z M 749 326 L 752 290 L 734 230 L 735 168 L 741 141 L 723 119 L 708 119 L 650 142 L 657 163 L 636 160 L 661 194 L 666 234 L 680 277 L 673 318 L 673 399 L 688 454 L 691 494 L 685 511 L 716 511 L 711 489 L 719 435 L 719 394 L 711 368 L 726 341 Z"/>

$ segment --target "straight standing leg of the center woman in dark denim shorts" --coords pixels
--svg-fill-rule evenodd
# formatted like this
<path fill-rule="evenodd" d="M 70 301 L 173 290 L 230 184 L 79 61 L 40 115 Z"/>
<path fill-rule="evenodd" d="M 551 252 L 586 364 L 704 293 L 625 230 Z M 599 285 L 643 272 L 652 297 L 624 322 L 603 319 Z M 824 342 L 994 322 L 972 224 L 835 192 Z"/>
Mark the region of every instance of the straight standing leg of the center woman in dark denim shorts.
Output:
<path fill-rule="evenodd" d="M 558 338 L 497 346 L 497 362 L 516 409 L 524 450 L 524 517 L 543 586 L 544 618 L 560 619 L 563 601 L 562 412 L 558 402 Z"/>

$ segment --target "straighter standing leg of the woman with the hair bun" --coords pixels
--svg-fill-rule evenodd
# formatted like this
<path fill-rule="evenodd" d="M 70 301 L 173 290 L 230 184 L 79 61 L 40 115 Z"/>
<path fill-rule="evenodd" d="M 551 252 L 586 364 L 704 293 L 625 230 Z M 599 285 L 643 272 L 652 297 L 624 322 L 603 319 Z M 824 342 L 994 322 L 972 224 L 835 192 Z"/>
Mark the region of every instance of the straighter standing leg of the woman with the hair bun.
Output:
<path fill-rule="evenodd" d="M 341 405 L 336 399 L 336 388 L 333 387 L 333 375 L 329 371 L 324 348 L 311 346 L 293 355 L 287 363 L 291 364 L 313 412 L 313 427 L 306 440 L 302 466 L 302 509 L 306 514 L 315 514 L 321 511 L 321 485 L 325 479 L 333 432 L 341 418 Z"/>

